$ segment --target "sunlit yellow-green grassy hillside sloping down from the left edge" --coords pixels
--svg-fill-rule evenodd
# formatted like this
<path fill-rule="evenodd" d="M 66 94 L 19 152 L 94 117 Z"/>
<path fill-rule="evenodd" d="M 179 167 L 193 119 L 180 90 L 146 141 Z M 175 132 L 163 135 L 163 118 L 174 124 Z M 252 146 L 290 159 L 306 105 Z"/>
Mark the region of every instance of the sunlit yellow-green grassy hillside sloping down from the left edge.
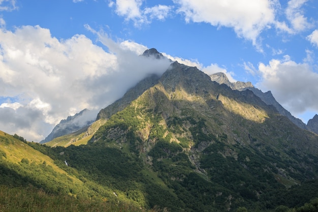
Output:
<path fill-rule="evenodd" d="M 145 211 L 124 193 L 115 196 L 114 189 L 85 177 L 89 174 L 28 144 L 0 131 L 0 211 Z"/>

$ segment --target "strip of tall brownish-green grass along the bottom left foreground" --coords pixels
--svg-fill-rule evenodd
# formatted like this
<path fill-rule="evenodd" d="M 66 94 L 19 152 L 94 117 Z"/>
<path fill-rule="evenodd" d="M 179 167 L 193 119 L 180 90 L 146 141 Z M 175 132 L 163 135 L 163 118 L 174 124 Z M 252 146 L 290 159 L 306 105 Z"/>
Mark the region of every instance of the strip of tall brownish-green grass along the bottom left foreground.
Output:
<path fill-rule="evenodd" d="M 119 203 L 118 205 L 106 201 L 90 201 L 76 199 L 68 195 L 48 194 L 43 190 L 29 187 L 10 188 L 0 186 L 0 211 L 2 212 L 159 212 L 159 209 L 146 210 L 132 205 Z"/>

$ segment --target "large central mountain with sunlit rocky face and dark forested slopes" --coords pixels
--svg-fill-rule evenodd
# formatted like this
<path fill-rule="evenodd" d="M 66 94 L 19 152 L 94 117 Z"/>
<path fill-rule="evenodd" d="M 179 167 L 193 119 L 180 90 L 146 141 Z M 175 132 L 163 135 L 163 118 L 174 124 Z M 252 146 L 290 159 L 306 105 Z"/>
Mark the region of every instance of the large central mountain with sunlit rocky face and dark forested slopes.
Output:
<path fill-rule="evenodd" d="M 146 189 L 151 206 L 264 209 L 265 202 L 295 206 L 315 197 L 310 191 L 295 201 L 285 188 L 316 178 L 318 137 L 250 90 L 219 85 L 177 62 L 148 86 L 138 98 L 124 96 L 103 109 L 108 115 L 99 117 L 107 121 L 88 145 L 121 149 L 157 173 L 169 189 L 160 199 Z"/>

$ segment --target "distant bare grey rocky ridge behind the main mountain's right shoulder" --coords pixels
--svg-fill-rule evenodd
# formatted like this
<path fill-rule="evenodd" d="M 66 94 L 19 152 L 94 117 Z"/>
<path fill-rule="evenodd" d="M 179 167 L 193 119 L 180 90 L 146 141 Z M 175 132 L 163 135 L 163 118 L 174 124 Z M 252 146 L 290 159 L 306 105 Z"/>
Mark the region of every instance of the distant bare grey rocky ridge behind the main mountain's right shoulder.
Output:
<path fill-rule="evenodd" d="M 283 108 L 275 100 L 275 98 L 273 97 L 273 95 L 270 91 L 263 93 L 262 90 L 254 87 L 250 82 L 240 82 L 240 81 L 230 82 L 228 77 L 224 73 L 221 73 L 221 72 L 211 74 L 210 77 L 211 77 L 212 81 L 216 81 L 219 84 L 226 84 L 235 90 L 246 90 L 246 89 L 251 90 L 256 96 L 260 97 L 266 104 L 273 105 L 277 109 L 279 114 L 288 117 L 288 119 L 290 119 L 295 125 L 297 125 L 298 127 L 302 128 L 302 129 L 310 130 L 310 129 L 308 129 L 306 124 L 304 124 L 302 122 L 301 119 L 296 118 L 289 111 L 287 111 L 285 108 Z M 318 128 L 317 128 L 317 130 L 318 130 Z M 312 132 L 314 132 L 314 131 L 312 131 Z"/>

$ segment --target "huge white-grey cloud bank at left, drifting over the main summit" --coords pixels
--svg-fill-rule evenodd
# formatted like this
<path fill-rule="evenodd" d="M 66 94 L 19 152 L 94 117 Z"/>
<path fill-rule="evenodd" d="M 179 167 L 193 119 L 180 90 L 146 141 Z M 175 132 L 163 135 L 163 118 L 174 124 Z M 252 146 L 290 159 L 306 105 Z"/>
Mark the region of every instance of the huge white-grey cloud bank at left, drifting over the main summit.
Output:
<path fill-rule="evenodd" d="M 109 52 L 84 35 L 58 40 L 40 26 L 0 29 L 0 97 L 15 99 L 0 106 L 0 129 L 42 140 L 61 119 L 104 108 L 170 65 L 139 56 L 145 46 L 95 33 Z"/>

